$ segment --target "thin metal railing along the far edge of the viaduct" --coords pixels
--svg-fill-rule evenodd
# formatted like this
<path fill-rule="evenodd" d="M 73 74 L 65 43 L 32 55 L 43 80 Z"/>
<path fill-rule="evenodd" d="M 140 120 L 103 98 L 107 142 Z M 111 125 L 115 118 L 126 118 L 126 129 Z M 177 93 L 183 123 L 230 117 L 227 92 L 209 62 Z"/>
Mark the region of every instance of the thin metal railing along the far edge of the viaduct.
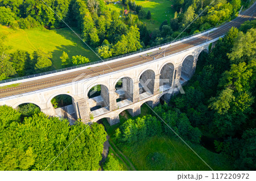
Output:
<path fill-rule="evenodd" d="M 220 27 L 222 24 L 225 24 L 225 23 L 226 23 L 226 22 L 223 22 L 223 23 L 221 23 L 220 25 L 218 25 L 218 26 L 216 26 L 216 27 Z M 213 27 L 213 28 L 216 28 L 216 27 Z M 127 54 L 122 54 L 121 56 L 112 57 L 112 58 L 107 58 L 107 59 L 105 59 L 105 60 L 99 60 L 99 61 L 95 61 L 95 62 L 89 62 L 89 63 L 81 64 L 81 65 L 71 66 L 71 67 L 69 67 L 69 68 L 63 68 L 63 69 L 58 69 L 58 70 L 47 71 L 47 72 L 39 73 L 39 74 L 33 74 L 33 75 L 27 75 L 27 76 L 24 76 L 24 77 L 17 77 L 17 78 L 12 78 L 12 79 L 6 79 L 6 80 L 4 80 L 4 81 L 0 81 L 0 84 L 1 84 L 1 83 L 7 83 L 7 82 L 13 82 L 13 81 L 19 81 L 19 80 L 22 80 L 22 79 L 28 79 L 28 78 L 33 78 L 33 77 L 39 77 L 39 76 L 42 76 L 42 75 L 48 75 L 48 74 L 58 73 L 58 72 L 60 72 L 60 71 L 65 71 L 65 70 L 77 69 L 77 68 L 81 68 L 81 67 L 84 67 L 84 66 L 99 64 L 99 63 L 102 63 L 102 62 L 107 62 L 107 61 L 110 61 L 110 60 L 115 60 L 115 59 L 118 59 L 118 58 L 123 58 L 123 57 L 131 56 L 131 55 L 133 55 L 133 54 L 137 54 L 137 53 L 141 53 L 141 52 L 146 52 L 147 50 L 151 50 L 151 49 L 163 47 L 164 45 L 168 45 L 168 44 L 175 43 L 175 42 L 177 42 L 177 41 L 181 41 L 181 40 L 184 40 L 184 39 L 188 39 L 189 37 L 196 36 L 196 35 L 199 35 L 199 34 L 201 34 L 201 33 L 210 31 L 210 30 L 212 30 L 213 28 L 209 28 L 208 30 L 204 30 L 204 31 L 201 31 L 201 32 L 197 32 L 197 33 L 192 34 L 192 35 L 189 35 L 189 36 L 181 37 L 180 39 L 177 39 L 177 40 L 175 40 L 175 41 L 170 41 L 170 42 L 167 42 L 167 43 L 164 43 L 164 44 L 156 45 L 156 46 L 154 46 L 154 47 L 150 47 L 150 48 L 138 50 L 138 51 L 136 51 L 136 52 L 131 52 L 131 53 L 127 53 Z"/>

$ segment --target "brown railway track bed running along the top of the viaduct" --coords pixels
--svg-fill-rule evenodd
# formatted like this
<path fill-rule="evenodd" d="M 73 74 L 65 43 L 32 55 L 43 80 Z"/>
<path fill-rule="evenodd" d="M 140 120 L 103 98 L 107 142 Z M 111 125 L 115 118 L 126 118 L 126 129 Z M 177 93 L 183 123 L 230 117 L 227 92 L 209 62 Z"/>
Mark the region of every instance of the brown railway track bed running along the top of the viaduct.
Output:
<path fill-rule="evenodd" d="M 250 9 L 245 11 L 247 15 L 251 15 L 255 13 L 255 5 L 251 6 Z M 225 33 L 231 28 L 231 27 L 239 27 L 240 24 L 245 22 L 247 19 L 249 19 L 250 16 L 242 15 L 240 17 L 237 17 L 236 19 L 224 24 L 223 26 L 219 27 L 217 30 L 210 32 L 208 36 L 202 35 L 199 37 L 195 37 L 191 40 L 184 41 L 183 43 L 175 44 L 172 47 L 166 48 L 165 50 L 165 56 L 168 56 L 170 54 L 176 53 L 177 50 L 184 50 L 191 47 L 195 47 L 196 45 L 205 43 L 207 40 L 213 40 L 217 37 L 220 37 L 222 35 L 225 35 Z M 0 98 L 11 96 L 11 95 L 17 95 L 22 94 L 24 92 L 31 92 L 34 90 L 40 90 L 45 89 L 52 86 L 61 85 L 63 83 L 71 82 L 72 79 L 78 77 L 81 74 L 90 75 L 91 77 L 109 73 L 111 71 L 116 71 L 118 69 L 124 69 L 126 66 L 135 66 L 138 64 L 143 64 L 144 62 L 155 60 L 155 57 L 158 58 L 159 56 L 164 56 L 163 50 L 156 50 L 156 53 L 150 54 L 150 55 L 144 55 L 144 56 L 138 56 L 131 58 L 130 60 L 123 60 L 118 62 L 112 62 L 108 63 L 106 65 L 96 66 L 90 69 L 81 70 L 79 72 L 73 72 L 68 73 L 68 75 L 55 75 L 49 78 L 43 78 L 37 81 L 28 81 L 24 83 L 20 83 L 17 87 L 10 87 L 7 89 L 1 89 L 0 90 Z"/>

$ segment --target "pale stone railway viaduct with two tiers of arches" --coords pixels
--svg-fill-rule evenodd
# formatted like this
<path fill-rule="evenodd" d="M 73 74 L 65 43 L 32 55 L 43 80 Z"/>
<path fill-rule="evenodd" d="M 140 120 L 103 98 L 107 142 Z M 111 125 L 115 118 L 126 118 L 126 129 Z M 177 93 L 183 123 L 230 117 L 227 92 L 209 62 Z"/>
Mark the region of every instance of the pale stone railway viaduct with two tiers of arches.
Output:
<path fill-rule="evenodd" d="M 255 9 L 254 5 L 253 9 Z M 228 29 L 229 28 L 231 27 L 228 27 Z M 226 31 L 228 31 L 228 29 Z M 187 48 L 183 50 L 167 54 L 166 56 L 161 54 L 156 56 L 152 61 L 143 62 L 142 64 L 134 66 L 126 66 L 123 69 L 110 72 L 104 73 L 103 71 L 97 74 L 97 76 L 80 74 L 78 77 L 74 78 L 72 82 L 63 83 L 61 85 L 53 84 L 44 89 L 0 96 L 0 105 L 6 104 L 16 108 L 20 104 L 33 103 L 49 116 L 61 116 L 59 113 L 60 110 L 53 108 L 51 100 L 57 95 L 64 94 L 72 97 L 72 105 L 66 108 L 67 114 L 71 114 L 76 119 L 81 119 L 84 123 L 106 118 L 110 125 L 116 124 L 119 122 L 119 113 L 122 111 L 128 110 L 131 116 L 137 116 L 141 113 L 143 103 L 154 107 L 159 103 L 160 98 L 168 100 L 171 98 L 172 94 L 179 91 L 177 86 L 184 85 L 195 72 L 200 53 L 208 52 L 209 44 L 212 43 L 214 45 L 220 37 L 224 36 L 225 32 L 220 33 L 219 36 L 213 39 L 208 40 L 207 37 L 204 41 L 193 45 L 189 44 L 189 40 L 195 39 L 196 37 L 206 37 L 210 32 L 215 30 L 217 30 L 217 28 L 172 44 L 164 45 L 160 48 L 118 58 L 108 61 L 107 63 L 119 63 L 122 62 L 122 60 L 132 59 L 134 57 L 148 56 L 151 52 L 163 50 L 170 46 L 175 47 L 178 44 L 188 44 Z M 28 81 L 37 82 L 43 78 L 51 79 L 51 77 L 55 75 L 61 77 L 62 75 L 64 76 L 80 70 L 91 70 L 104 64 L 106 63 L 2 83 L 0 87 L 10 86 L 14 83 L 26 83 Z M 120 79 L 122 80 L 122 87 L 120 87 L 121 89 L 117 89 L 116 85 Z M 100 95 L 90 96 L 90 90 L 96 85 L 101 86 Z"/>

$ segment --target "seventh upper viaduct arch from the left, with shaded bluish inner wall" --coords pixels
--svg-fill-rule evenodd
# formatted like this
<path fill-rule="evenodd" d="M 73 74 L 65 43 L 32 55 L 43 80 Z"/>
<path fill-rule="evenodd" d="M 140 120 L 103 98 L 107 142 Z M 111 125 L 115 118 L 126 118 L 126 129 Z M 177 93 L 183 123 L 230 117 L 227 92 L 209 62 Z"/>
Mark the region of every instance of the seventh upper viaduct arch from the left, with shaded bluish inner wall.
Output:
<path fill-rule="evenodd" d="M 182 61 L 182 68 L 181 68 L 181 79 L 184 81 L 188 81 L 193 74 L 193 69 L 195 69 L 194 65 L 195 58 L 192 55 L 188 55 Z"/>

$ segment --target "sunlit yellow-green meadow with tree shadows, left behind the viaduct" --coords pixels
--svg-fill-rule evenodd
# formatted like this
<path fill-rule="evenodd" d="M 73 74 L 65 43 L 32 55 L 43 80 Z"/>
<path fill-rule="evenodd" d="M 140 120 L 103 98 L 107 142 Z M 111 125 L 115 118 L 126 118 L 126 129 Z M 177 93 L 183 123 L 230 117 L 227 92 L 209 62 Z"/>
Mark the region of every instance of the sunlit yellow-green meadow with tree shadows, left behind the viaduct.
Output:
<path fill-rule="evenodd" d="M 96 54 L 86 47 L 69 28 L 44 31 L 32 28 L 14 31 L 6 26 L 0 26 L 0 33 L 7 36 L 5 44 L 12 47 L 7 53 L 17 49 L 26 50 L 29 53 L 36 49 L 52 52 L 52 64 L 55 69 L 61 68 L 60 56 L 63 51 L 67 52 L 70 58 L 81 54 L 88 57 L 91 62 L 99 60 Z"/>

